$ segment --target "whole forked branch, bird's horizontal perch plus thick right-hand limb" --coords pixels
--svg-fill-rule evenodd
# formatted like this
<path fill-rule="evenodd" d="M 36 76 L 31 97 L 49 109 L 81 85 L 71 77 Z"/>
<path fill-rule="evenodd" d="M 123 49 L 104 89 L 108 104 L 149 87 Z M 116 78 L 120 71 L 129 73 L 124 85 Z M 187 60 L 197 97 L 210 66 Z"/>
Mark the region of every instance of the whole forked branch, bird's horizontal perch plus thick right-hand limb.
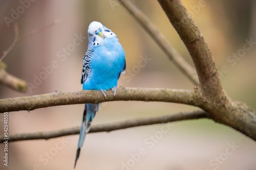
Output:
<path fill-rule="evenodd" d="M 124 3 L 125 2 L 127 1 L 124 1 Z M 30 111 L 50 106 L 83 103 L 96 104 L 108 101 L 173 102 L 198 106 L 208 112 L 208 118 L 237 129 L 256 140 L 256 112 L 246 104 L 232 101 L 227 96 L 222 88 L 218 71 L 208 45 L 183 4 L 179 0 L 159 0 L 159 3 L 193 59 L 199 77 L 199 88 L 195 87 L 194 90 L 176 90 L 121 87 L 117 88 L 117 95 L 115 97 L 113 97 L 111 91 L 108 91 L 106 93 L 106 99 L 103 98 L 100 91 L 56 92 L 0 100 L 0 112 L 18 110 Z M 146 23 L 148 20 L 144 21 Z M 143 21 L 141 22 L 145 24 Z M 151 25 L 146 24 L 144 28 L 147 30 L 152 29 Z M 154 31 L 156 31 L 154 28 L 151 31 L 153 36 L 159 36 L 154 34 Z M 161 36 L 160 39 L 158 38 L 155 38 L 155 40 L 163 41 L 161 40 Z"/>

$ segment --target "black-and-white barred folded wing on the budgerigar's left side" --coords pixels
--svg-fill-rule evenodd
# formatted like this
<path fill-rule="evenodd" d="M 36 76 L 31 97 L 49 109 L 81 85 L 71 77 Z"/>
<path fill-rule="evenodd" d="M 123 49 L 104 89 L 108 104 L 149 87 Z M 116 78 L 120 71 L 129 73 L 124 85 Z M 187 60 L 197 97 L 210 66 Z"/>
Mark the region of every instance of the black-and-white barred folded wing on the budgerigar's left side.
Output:
<path fill-rule="evenodd" d="M 90 60 L 93 55 L 92 48 L 88 48 L 86 54 L 83 56 L 83 62 L 82 62 L 82 74 L 81 74 L 81 84 L 83 84 L 91 72 L 91 64 Z"/>

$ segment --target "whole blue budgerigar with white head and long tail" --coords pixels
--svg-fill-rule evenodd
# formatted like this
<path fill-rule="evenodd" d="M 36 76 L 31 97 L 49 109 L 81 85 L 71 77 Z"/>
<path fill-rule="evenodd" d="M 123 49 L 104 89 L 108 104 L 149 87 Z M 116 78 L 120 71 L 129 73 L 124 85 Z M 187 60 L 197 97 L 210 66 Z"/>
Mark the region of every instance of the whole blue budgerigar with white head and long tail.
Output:
<path fill-rule="evenodd" d="M 83 56 L 82 64 L 81 84 L 83 90 L 100 90 L 106 98 L 106 90 L 112 89 L 115 96 L 117 80 L 126 68 L 123 47 L 116 38 L 116 34 L 97 21 L 93 21 L 89 25 L 88 40 L 88 50 Z M 98 108 L 99 104 L 84 105 L 75 166 L 84 138 L 89 132 Z"/>

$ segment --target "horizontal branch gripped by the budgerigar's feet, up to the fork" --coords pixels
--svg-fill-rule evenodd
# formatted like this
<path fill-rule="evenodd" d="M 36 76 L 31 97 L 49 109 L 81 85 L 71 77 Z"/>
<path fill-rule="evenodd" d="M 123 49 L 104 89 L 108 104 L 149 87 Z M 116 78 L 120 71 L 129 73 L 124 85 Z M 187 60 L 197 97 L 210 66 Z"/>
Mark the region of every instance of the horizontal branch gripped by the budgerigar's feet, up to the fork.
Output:
<path fill-rule="evenodd" d="M 100 91 L 83 90 L 75 92 L 55 92 L 49 94 L 40 94 L 26 96 L 21 98 L 11 98 L 0 100 L 0 113 L 34 110 L 38 108 L 73 105 L 84 103 L 101 103 L 109 101 L 156 101 L 156 102 L 173 102 L 197 106 L 194 91 L 176 90 L 164 88 L 124 88 L 116 89 L 116 96 L 113 96 L 111 90 L 106 93 L 106 98 Z"/>

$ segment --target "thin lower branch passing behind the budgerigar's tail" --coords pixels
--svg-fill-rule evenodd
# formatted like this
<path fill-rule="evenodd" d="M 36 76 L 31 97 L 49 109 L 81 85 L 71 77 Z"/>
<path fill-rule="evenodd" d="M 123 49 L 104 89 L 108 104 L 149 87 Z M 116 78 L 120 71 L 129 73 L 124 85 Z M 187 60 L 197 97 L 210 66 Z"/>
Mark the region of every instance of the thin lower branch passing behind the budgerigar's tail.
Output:
<path fill-rule="evenodd" d="M 89 133 L 110 132 L 110 131 L 126 129 L 126 128 L 162 124 L 162 123 L 168 123 L 168 122 L 175 122 L 179 120 L 189 120 L 189 119 L 198 119 L 198 118 L 207 118 L 207 113 L 203 110 L 196 110 L 196 111 L 180 112 L 177 114 L 167 114 L 167 115 L 156 116 L 156 117 L 126 120 L 124 122 L 119 122 L 119 123 L 95 125 L 95 126 L 92 126 Z M 17 140 L 50 139 L 50 138 L 55 138 L 60 136 L 79 134 L 79 131 L 80 131 L 80 127 L 74 127 L 74 128 L 68 128 L 68 129 L 62 129 L 62 130 L 50 131 L 50 132 L 14 134 L 9 136 L 8 142 L 17 141 Z M 5 138 L 4 136 L 0 136 L 0 142 L 5 141 L 4 138 Z"/>

